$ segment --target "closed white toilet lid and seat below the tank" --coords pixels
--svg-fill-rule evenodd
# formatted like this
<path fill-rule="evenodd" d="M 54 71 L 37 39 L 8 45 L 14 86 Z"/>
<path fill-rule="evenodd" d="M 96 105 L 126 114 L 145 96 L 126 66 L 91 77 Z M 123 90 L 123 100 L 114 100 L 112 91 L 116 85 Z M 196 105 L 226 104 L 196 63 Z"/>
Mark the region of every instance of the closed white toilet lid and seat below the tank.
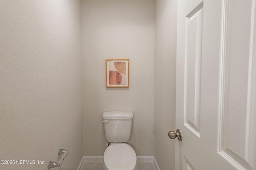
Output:
<path fill-rule="evenodd" d="M 136 168 L 136 153 L 126 143 L 109 145 L 103 157 L 104 165 L 110 170 L 134 170 Z"/>

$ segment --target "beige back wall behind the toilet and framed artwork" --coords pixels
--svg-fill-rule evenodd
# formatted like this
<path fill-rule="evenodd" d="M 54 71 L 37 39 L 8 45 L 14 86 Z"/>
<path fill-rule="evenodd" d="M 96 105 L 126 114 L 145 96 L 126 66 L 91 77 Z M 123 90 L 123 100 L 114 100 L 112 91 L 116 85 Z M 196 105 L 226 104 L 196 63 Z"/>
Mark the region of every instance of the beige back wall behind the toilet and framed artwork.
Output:
<path fill-rule="evenodd" d="M 154 0 L 83 0 L 84 155 L 103 155 L 103 111 L 133 111 L 129 144 L 154 154 Z M 130 59 L 130 88 L 106 88 L 105 59 Z M 135 130 L 136 129 L 136 130 Z"/>

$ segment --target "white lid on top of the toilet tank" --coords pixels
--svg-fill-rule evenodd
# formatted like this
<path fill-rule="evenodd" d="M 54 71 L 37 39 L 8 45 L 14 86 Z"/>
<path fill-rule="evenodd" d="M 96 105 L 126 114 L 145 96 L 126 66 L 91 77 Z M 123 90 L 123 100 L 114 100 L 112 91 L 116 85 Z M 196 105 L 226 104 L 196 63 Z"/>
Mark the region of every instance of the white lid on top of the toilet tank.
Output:
<path fill-rule="evenodd" d="M 132 111 L 104 111 L 103 119 L 132 119 Z"/>

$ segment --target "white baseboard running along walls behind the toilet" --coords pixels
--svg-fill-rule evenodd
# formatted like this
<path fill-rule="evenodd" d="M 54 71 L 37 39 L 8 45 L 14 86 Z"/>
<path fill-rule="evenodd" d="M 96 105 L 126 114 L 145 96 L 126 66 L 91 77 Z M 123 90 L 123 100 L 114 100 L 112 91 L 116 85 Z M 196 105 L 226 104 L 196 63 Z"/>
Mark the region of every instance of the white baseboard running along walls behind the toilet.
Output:
<path fill-rule="evenodd" d="M 77 169 L 82 169 L 86 162 L 103 162 L 103 156 L 83 156 Z M 153 162 L 156 170 L 160 170 L 154 156 L 137 156 L 137 162 Z"/>

